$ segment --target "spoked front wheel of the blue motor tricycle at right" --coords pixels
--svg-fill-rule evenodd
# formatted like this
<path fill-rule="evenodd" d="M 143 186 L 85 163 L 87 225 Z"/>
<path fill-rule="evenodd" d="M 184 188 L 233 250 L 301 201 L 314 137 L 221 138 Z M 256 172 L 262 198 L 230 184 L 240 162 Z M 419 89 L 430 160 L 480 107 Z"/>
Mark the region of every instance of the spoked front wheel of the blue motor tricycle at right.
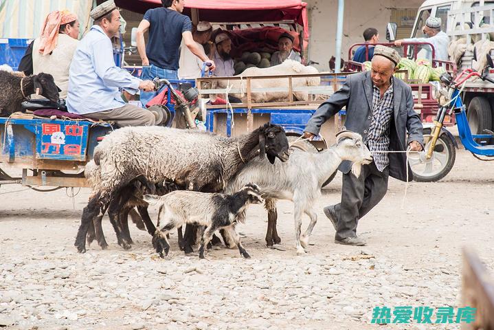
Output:
<path fill-rule="evenodd" d="M 425 151 L 429 149 L 431 129 L 424 129 Z M 456 159 L 455 144 L 447 134 L 438 137 L 431 159 L 425 159 L 425 152 L 410 153 L 408 163 L 418 182 L 434 182 L 445 177 Z"/>

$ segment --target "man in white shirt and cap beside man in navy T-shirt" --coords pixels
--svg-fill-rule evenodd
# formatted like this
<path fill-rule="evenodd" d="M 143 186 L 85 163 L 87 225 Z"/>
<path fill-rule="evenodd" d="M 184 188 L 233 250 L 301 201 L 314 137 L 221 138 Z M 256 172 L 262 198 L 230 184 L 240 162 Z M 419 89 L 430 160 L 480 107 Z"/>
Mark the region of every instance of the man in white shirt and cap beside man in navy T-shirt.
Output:
<path fill-rule="evenodd" d="M 204 52 L 203 44 L 211 38 L 212 26 L 210 22 L 200 21 L 197 23 L 197 27 L 192 33 L 192 38 L 197 44 L 197 47 Z M 180 60 L 179 60 L 179 78 L 180 79 L 195 79 L 201 77 L 201 69 L 203 67 L 203 61 L 201 58 L 195 56 L 190 52 L 186 46 L 185 41 L 182 39 L 180 45 Z M 205 68 L 209 69 L 208 67 Z"/>

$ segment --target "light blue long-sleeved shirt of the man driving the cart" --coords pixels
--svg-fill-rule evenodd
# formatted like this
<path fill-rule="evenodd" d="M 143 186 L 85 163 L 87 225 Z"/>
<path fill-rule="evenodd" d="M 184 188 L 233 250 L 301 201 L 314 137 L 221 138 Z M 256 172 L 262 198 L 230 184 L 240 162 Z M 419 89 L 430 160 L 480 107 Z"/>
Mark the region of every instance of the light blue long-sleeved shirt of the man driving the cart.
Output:
<path fill-rule="evenodd" d="M 83 115 L 121 108 L 126 103 L 119 89 L 135 94 L 141 81 L 115 65 L 111 40 L 99 25 L 93 25 L 70 65 L 67 109 Z"/>

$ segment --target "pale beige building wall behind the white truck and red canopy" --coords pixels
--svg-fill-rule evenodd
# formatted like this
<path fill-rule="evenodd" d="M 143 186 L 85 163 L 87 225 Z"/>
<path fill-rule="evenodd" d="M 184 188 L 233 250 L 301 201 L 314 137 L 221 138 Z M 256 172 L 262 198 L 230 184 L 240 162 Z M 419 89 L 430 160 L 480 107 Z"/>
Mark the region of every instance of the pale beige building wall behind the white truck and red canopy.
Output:
<path fill-rule="evenodd" d="M 329 69 L 328 61 L 335 55 L 337 0 L 304 0 L 308 5 L 308 20 L 311 37 L 308 45 L 308 58 L 318 62 L 319 71 Z M 344 7 L 343 40 L 341 58 L 348 59 L 348 48 L 354 43 L 363 42 L 362 32 L 366 28 L 377 28 L 380 41 L 385 42 L 386 24 L 396 19 L 396 14 L 411 15 L 423 3 L 422 0 L 346 0 Z M 404 10 L 407 10 L 406 12 Z M 396 22 L 400 25 L 400 22 Z M 405 20 L 403 20 L 403 23 Z M 402 30 L 402 31 L 400 31 Z M 405 33 L 406 34 L 406 33 Z M 398 28 L 398 36 L 403 28 Z"/>

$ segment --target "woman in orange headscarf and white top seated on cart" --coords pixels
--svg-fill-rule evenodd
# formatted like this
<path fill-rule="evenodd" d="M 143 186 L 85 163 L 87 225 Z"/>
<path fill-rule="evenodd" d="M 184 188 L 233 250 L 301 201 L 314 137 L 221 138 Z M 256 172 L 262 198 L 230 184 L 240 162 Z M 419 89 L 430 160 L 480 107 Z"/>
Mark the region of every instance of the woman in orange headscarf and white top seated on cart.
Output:
<path fill-rule="evenodd" d="M 79 21 L 68 10 L 50 12 L 43 23 L 41 35 L 35 39 L 19 64 L 25 74 L 51 74 L 67 97 L 69 67 L 78 45 Z M 31 63 L 30 63 L 31 62 Z"/>

